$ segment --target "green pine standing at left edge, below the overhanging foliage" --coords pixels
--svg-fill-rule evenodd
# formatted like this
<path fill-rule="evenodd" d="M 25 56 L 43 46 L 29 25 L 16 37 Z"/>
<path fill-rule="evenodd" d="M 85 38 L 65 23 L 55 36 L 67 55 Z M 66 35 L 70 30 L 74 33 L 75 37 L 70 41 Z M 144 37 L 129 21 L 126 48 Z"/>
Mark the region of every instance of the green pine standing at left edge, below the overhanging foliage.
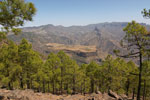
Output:
<path fill-rule="evenodd" d="M 18 63 L 18 46 L 9 41 L 8 45 L 3 45 L 0 49 L 0 62 L 2 63 L 3 67 L 1 67 L 1 74 L 2 74 L 2 83 L 3 85 L 7 85 L 9 89 L 14 88 L 14 83 L 16 83 L 19 79 L 19 75 L 22 71 L 21 66 Z"/>

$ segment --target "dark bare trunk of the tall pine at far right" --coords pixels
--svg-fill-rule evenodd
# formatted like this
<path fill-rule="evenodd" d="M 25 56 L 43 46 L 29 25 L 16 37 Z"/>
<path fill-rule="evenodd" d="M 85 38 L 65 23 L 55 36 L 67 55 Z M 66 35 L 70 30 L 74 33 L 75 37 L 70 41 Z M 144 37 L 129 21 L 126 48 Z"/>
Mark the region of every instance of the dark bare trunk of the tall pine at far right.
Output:
<path fill-rule="evenodd" d="M 139 84 L 138 84 L 138 93 L 137 100 L 140 100 L 141 95 L 141 82 L 142 82 L 142 53 L 140 52 L 140 66 L 139 66 Z"/>

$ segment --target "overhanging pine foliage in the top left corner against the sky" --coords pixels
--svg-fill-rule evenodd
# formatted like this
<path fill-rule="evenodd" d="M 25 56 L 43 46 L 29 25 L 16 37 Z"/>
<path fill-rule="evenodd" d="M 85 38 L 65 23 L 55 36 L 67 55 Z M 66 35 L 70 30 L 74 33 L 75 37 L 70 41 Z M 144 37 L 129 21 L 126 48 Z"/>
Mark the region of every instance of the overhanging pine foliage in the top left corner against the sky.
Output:
<path fill-rule="evenodd" d="M 0 25 L 4 33 L 11 31 L 18 34 L 21 30 L 16 27 L 23 26 L 25 21 L 32 21 L 36 8 L 33 3 L 24 0 L 1 0 L 0 11 Z"/>

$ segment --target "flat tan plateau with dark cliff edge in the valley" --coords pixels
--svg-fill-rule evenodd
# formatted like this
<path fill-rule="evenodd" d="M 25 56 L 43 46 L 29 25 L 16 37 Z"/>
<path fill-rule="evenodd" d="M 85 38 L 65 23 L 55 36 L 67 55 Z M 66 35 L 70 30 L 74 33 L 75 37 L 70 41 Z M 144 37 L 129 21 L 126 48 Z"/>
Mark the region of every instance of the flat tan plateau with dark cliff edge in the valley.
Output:
<path fill-rule="evenodd" d="M 99 52 L 96 46 L 85 46 L 85 45 L 65 45 L 59 43 L 48 43 L 46 44 L 48 48 L 45 52 L 49 54 L 50 52 L 64 51 L 71 58 L 75 59 L 77 62 L 89 63 L 91 60 L 101 61 L 98 57 Z"/>

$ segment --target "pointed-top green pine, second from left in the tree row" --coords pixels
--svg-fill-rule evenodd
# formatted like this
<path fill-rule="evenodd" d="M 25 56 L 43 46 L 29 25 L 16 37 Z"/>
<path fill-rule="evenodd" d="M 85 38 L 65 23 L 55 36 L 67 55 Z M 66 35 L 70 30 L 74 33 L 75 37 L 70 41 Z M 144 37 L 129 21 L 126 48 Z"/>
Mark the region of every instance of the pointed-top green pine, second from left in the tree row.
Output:
<path fill-rule="evenodd" d="M 37 73 L 41 66 L 42 60 L 39 54 L 32 50 L 32 45 L 27 40 L 23 39 L 18 47 L 19 62 L 22 67 L 20 76 L 20 85 L 23 88 L 27 85 L 28 89 L 32 88 L 32 76 Z"/>

